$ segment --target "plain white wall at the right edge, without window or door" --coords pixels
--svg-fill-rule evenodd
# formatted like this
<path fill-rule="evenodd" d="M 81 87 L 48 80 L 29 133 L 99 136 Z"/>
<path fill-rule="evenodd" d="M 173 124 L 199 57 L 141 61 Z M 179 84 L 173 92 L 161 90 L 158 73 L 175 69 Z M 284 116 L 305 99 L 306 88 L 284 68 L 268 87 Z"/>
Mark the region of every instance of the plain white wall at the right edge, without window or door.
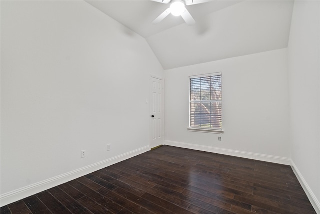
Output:
<path fill-rule="evenodd" d="M 320 4 L 294 3 L 288 43 L 292 164 L 320 213 Z M 312 202 L 312 200 L 311 200 Z M 316 205 L 316 206 L 315 206 Z"/>

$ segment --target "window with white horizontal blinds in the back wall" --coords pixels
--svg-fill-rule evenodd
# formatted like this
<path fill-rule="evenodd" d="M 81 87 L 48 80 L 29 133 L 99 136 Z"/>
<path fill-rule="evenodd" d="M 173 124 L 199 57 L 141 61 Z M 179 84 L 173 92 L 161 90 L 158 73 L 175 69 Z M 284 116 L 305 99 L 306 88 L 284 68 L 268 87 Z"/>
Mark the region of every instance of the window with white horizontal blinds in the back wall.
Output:
<path fill-rule="evenodd" d="M 189 129 L 222 132 L 221 73 L 189 77 Z"/>

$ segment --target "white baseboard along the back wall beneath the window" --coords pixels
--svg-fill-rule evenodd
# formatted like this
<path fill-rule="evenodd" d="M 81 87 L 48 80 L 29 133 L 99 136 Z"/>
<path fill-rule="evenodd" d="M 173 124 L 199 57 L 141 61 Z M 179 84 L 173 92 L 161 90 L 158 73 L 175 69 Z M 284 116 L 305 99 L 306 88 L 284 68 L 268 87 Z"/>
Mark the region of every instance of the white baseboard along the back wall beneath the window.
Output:
<path fill-rule="evenodd" d="M 207 152 L 213 152 L 213 153 L 218 153 L 218 154 L 226 154 L 226 155 L 232 155 L 232 156 L 236 156 L 236 157 L 243 157 L 243 158 L 248 158 L 248 159 L 272 162 L 272 163 L 280 163 L 280 164 L 285 164 L 285 165 L 290 165 L 290 163 L 291 163 L 290 158 L 286 158 L 286 157 L 278 157 L 278 156 L 273 156 L 273 155 L 266 155 L 266 154 L 258 154 L 258 153 L 252 153 L 252 152 L 217 148 L 217 147 L 212 147 L 212 146 L 204 146 L 204 145 L 191 144 L 191 143 L 182 143 L 182 142 L 176 142 L 176 141 L 171 141 L 171 140 L 165 140 L 164 145 L 177 146 L 177 147 L 181 147 L 181 148 L 207 151 Z"/>

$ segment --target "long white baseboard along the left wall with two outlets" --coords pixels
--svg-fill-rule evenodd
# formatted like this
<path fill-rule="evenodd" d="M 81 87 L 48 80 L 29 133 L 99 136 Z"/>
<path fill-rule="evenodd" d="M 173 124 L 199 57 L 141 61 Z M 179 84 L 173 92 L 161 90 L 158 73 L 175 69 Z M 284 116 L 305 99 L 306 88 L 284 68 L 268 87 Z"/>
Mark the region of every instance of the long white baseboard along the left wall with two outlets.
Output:
<path fill-rule="evenodd" d="M 149 145 L 0 195 L 0 206 L 68 182 L 150 150 Z"/>

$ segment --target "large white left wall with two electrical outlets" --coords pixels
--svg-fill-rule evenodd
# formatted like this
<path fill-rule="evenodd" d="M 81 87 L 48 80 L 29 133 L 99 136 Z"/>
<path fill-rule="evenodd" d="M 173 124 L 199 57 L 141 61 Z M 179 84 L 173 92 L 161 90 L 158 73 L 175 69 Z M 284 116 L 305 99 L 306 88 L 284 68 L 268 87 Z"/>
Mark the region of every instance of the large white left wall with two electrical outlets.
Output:
<path fill-rule="evenodd" d="M 146 41 L 83 1 L 1 1 L 1 205 L 148 149 L 150 73 Z"/>

